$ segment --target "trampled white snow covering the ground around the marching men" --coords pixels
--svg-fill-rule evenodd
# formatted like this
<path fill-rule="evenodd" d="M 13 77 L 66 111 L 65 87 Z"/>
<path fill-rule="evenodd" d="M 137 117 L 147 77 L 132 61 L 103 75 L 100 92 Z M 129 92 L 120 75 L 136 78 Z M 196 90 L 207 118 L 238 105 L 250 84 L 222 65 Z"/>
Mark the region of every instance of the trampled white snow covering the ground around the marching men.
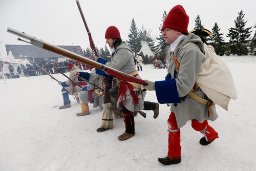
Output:
<path fill-rule="evenodd" d="M 229 110 L 217 106 L 219 118 L 210 122 L 219 139 L 208 146 L 199 144 L 202 135 L 190 122 L 181 128 L 182 162 L 163 166 L 157 159 L 167 155 L 169 107 L 160 104 L 153 119 L 135 117 L 136 134 L 126 141 L 122 118 L 114 129 L 96 132 L 101 109 L 77 117 L 80 105 L 62 105 L 61 87 L 48 75 L 0 80 L 0 170 L 256 170 L 256 57 L 222 57 L 233 74 L 238 99 Z M 165 69 L 143 66 L 143 79 L 162 80 Z M 60 74 L 53 75 L 66 80 Z M 156 102 L 155 92 L 147 101 Z"/>

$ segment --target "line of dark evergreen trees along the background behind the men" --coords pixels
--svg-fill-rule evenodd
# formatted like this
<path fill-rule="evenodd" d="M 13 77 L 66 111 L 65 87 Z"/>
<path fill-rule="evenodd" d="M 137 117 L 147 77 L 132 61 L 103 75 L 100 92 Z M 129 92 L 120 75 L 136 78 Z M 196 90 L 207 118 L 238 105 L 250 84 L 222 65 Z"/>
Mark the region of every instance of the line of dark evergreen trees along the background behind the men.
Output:
<path fill-rule="evenodd" d="M 164 11 L 161 18 L 161 23 L 163 23 L 166 16 L 167 13 L 166 11 Z M 225 42 L 224 35 L 223 33 L 221 33 L 221 29 L 216 22 L 211 28 L 212 35 L 208 36 L 207 38 L 208 44 L 215 48 L 216 54 L 219 56 L 229 56 L 231 54 L 256 55 L 256 31 L 253 35 L 251 35 L 252 27 L 246 28 L 246 23 L 247 20 L 245 20 L 245 14 L 241 10 L 240 12 L 238 12 L 238 17 L 234 20 L 234 27 L 228 29 L 226 37 L 229 38 L 229 41 Z M 128 40 L 126 40 L 131 50 L 134 52 L 135 55 L 137 55 L 141 49 L 141 41 L 143 40 L 147 43 L 152 52 L 155 54 L 155 56 L 144 56 L 143 53 L 140 53 L 140 55 L 143 57 L 144 63 L 152 62 L 154 60 L 154 57 L 158 57 L 160 58 L 160 60 L 163 61 L 168 53 L 169 45 L 165 44 L 164 37 L 161 33 L 161 28 L 162 24 L 158 28 L 159 35 L 156 37 L 152 35 L 152 30 L 147 30 L 144 28 L 144 26 L 142 26 L 141 29 L 138 29 L 134 18 L 132 18 L 130 33 L 128 35 Z M 202 20 L 200 18 L 200 15 L 198 14 L 195 19 L 194 29 L 201 28 L 204 28 L 204 26 L 202 25 Z M 256 24 L 253 26 L 253 28 L 256 29 Z M 104 48 L 97 48 L 97 51 L 99 52 L 101 57 L 110 60 L 111 54 L 106 45 Z M 84 55 L 93 57 L 92 51 L 89 48 L 84 50 Z"/>

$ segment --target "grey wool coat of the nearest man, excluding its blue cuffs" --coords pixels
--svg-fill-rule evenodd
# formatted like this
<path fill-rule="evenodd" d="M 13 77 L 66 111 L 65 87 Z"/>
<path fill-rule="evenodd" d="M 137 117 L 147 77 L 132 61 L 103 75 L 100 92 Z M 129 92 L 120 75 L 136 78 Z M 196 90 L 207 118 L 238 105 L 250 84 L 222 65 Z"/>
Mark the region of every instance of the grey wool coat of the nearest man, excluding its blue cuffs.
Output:
<path fill-rule="evenodd" d="M 184 47 L 187 42 L 193 42 L 193 44 Z M 183 47 L 184 49 L 182 49 Z M 189 33 L 188 36 L 182 37 L 174 50 L 174 55 L 180 62 L 180 69 L 176 69 L 173 58 L 170 57 L 168 73 L 170 73 L 172 78 L 176 79 L 180 103 L 172 105 L 170 111 L 175 113 L 178 127 L 184 126 L 188 120 L 192 119 L 196 119 L 200 123 L 206 119 L 216 120 L 218 114 L 215 105 L 212 106 L 212 115 L 208 117 L 208 106 L 188 95 L 197 80 L 201 65 L 204 62 L 204 45 L 200 37 L 194 35 L 194 33 Z M 206 97 L 200 88 L 197 88 L 195 93 L 201 97 Z"/>

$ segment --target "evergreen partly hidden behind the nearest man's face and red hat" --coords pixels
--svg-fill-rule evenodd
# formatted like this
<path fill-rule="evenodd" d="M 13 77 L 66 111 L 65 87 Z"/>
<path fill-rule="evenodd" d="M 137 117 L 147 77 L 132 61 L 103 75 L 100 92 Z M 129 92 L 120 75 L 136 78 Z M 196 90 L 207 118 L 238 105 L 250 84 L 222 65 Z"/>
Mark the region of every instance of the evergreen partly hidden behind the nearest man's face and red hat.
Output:
<path fill-rule="evenodd" d="M 166 16 L 167 16 L 167 13 L 166 13 L 166 11 L 164 11 L 162 19 L 161 19 L 161 23 L 164 22 Z M 160 32 L 161 32 L 162 27 L 163 27 L 163 25 L 161 24 L 159 27 Z M 157 56 L 163 60 L 163 59 L 165 59 L 165 56 L 167 54 L 167 49 L 169 46 L 167 44 L 165 44 L 165 39 L 164 39 L 162 33 L 157 37 L 157 41 L 158 41 L 158 44 L 156 46 Z"/>

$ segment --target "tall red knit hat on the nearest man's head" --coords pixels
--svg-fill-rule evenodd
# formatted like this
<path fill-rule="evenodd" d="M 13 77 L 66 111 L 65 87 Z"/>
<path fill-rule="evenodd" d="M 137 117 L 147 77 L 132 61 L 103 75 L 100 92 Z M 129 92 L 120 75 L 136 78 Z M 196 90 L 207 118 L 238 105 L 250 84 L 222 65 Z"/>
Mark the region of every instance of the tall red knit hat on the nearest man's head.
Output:
<path fill-rule="evenodd" d="M 173 7 L 168 13 L 163 22 L 162 30 L 166 28 L 178 30 L 182 33 L 187 33 L 187 26 L 189 22 L 189 16 L 181 5 Z"/>

